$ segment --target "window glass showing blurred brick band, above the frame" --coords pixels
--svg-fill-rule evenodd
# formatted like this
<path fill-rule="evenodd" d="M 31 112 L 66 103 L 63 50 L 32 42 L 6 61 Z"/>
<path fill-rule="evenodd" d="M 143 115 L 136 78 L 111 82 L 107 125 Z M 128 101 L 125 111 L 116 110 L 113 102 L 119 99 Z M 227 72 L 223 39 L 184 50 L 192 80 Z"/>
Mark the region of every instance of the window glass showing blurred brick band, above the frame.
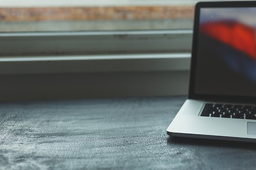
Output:
<path fill-rule="evenodd" d="M 196 0 L 0 0 L 0 32 L 191 29 Z"/>

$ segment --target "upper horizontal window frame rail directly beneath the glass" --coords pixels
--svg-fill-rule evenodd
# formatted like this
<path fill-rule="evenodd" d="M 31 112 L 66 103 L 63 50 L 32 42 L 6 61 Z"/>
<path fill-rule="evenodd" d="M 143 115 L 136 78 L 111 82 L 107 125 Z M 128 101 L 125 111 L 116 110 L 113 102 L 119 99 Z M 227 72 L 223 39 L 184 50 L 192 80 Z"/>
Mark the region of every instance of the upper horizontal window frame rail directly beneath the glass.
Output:
<path fill-rule="evenodd" d="M 0 33 L 0 55 L 57 56 L 190 52 L 191 38 L 191 30 Z"/>

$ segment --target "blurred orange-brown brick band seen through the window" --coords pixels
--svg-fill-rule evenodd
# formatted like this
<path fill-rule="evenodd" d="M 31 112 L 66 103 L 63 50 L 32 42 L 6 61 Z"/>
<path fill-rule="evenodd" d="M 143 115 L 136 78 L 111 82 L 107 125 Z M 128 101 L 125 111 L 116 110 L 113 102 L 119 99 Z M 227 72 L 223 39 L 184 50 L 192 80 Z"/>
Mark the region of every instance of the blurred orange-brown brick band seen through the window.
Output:
<path fill-rule="evenodd" d="M 192 19 L 194 6 L 0 8 L 0 21 L 125 21 Z"/>

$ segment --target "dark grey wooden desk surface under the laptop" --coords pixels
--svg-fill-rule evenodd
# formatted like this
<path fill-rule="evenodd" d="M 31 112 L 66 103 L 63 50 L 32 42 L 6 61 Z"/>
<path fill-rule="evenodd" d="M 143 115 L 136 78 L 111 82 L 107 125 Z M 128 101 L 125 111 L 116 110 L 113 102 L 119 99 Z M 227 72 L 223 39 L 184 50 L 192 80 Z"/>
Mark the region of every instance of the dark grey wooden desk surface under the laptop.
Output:
<path fill-rule="evenodd" d="M 256 169 L 253 143 L 166 135 L 185 98 L 1 103 L 0 169 Z"/>

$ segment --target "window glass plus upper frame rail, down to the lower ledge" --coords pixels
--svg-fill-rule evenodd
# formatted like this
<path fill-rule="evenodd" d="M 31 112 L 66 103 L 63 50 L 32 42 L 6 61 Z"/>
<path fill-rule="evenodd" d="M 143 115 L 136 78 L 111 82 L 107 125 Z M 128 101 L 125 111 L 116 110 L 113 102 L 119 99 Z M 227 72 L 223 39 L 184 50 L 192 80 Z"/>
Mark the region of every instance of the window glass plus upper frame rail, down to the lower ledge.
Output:
<path fill-rule="evenodd" d="M 190 52 L 195 3 L 193 0 L 2 1 L 0 55 Z M 11 50 L 13 47 L 16 50 Z"/>

